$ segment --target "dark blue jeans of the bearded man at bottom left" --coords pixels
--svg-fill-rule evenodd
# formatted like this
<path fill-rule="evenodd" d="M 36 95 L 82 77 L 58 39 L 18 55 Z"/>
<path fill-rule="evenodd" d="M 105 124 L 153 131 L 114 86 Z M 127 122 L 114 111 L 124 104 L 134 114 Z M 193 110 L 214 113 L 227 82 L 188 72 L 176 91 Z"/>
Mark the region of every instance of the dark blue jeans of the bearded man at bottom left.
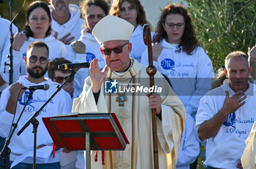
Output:
<path fill-rule="evenodd" d="M 31 169 L 33 168 L 33 164 L 27 163 L 18 163 L 12 169 Z M 37 164 L 37 169 L 61 169 L 61 162 L 54 162 L 48 164 Z"/>

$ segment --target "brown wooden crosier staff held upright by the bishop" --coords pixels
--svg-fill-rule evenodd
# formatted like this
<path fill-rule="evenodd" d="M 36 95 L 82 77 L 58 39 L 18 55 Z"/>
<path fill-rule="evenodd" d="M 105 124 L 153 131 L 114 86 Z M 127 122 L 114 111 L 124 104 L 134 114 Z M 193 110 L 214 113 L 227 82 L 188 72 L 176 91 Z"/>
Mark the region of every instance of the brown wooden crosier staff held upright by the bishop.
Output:
<path fill-rule="evenodd" d="M 151 47 L 151 31 L 148 24 L 143 25 L 143 39 L 144 43 L 148 46 L 148 67 L 146 68 L 149 75 L 150 87 L 154 86 L 154 74 L 157 73 L 157 68 L 153 65 L 152 47 Z M 154 92 L 153 92 L 154 93 Z M 153 94 L 150 93 L 150 94 Z M 153 147 L 154 147 L 154 168 L 159 168 L 158 162 L 158 148 L 157 148 L 157 111 L 151 109 L 152 115 L 152 131 L 153 131 Z"/>

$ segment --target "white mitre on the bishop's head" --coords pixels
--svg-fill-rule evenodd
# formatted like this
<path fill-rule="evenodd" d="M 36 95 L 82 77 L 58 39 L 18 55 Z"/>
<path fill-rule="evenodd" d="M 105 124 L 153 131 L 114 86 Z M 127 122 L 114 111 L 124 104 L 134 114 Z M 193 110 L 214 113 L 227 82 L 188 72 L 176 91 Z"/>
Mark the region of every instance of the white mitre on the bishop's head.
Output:
<path fill-rule="evenodd" d="M 108 15 L 99 20 L 91 31 L 91 34 L 97 39 L 99 44 L 112 40 L 125 40 L 129 41 L 132 36 L 134 26 L 113 15 Z"/>

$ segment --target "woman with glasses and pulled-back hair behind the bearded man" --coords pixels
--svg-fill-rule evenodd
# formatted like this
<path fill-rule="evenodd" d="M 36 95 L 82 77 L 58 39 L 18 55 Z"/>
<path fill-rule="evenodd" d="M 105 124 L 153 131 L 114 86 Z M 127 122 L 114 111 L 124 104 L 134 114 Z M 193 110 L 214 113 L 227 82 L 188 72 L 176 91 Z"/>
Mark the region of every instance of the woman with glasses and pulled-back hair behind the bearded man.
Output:
<path fill-rule="evenodd" d="M 29 44 L 34 41 L 42 41 L 49 47 L 49 60 L 54 58 L 66 57 L 67 47 L 52 36 L 51 33 L 50 9 L 43 1 L 34 1 L 29 5 L 26 12 L 25 30 L 15 35 L 12 44 L 13 53 L 13 80 L 16 82 L 20 75 L 27 74 L 26 65 L 23 58 L 26 57 L 26 51 Z M 10 46 L 5 48 L 3 55 L 9 55 Z M 3 57 L 1 60 L 1 75 L 6 82 L 9 82 L 9 71 L 4 72 L 4 62 L 9 63 L 10 59 Z"/>

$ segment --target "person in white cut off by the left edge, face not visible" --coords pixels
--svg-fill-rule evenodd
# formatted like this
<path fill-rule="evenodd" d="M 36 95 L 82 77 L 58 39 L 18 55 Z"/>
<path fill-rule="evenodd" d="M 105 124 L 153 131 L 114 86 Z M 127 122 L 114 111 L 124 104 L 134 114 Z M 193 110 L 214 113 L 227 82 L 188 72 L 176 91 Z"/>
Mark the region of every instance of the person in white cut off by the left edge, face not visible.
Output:
<path fill-rule="evenodd" d="M 7 48 L 8 44 L 10 44 L 10 21 L 2 18 L 0 16 L 0 28 L 1 28 L 1 34 L 0 34 L 0 61 L 1 58 L 7 58 L 7 55 L 3 55 L 4 49 Z M 18 33 L 18 28 L 12 24 L 12 33 L 16 34 Z M 1 70 L 1 64 L 0 64 L 0 70 Z M 9 67 L 6 67 L 6 71 L 9 70 Z M 4 79 L 2 79 L 0 75 L 0 95 L 1 92 L 8 86 L 6 82 L 4 82 Z"/>

